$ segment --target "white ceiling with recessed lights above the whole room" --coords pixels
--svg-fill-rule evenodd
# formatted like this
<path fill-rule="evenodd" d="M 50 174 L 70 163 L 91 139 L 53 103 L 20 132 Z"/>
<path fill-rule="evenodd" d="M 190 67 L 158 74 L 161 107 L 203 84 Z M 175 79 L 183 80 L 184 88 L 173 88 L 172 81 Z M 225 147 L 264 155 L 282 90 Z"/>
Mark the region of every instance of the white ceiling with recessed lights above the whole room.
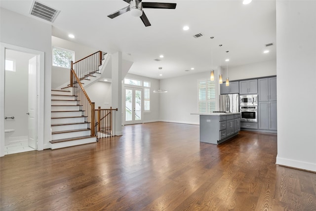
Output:
<path fill-rule="evenodd" d="M 248 5 L 242 0 L 143 1 L 177 3 L 177 7 L 144 8 L 152 24 L 145 27 L 128 12 L 114 19 L 107 17 L 128 5 L 123 0 L 40 0 L 61 10 L 52 23 L 54 36 L 109 53 L 121 51 L 124 59 L 133 62 L 132 74 L 165 79 L 209 71 L 211 52 L 213 69 L 220 64 L 226 67 L 226 58 L 229 67 L 276 59 L 275 0 L 253 0 Z M 32 2 L 1 0 L 0 5 L 39 19 L 29 14 Z M 182 29 L 185 25 L 190 27 L 188 31 Z M 75 39 L 68 38 L 69 33 Z M 198 33 L 203 36 L 194 38 Z M 265 46 L 271 42 L 272 46 Z M 265 49 L 270 52 L 264 54 Z M 155 61 L 160 54 L 164 58 Z"/>

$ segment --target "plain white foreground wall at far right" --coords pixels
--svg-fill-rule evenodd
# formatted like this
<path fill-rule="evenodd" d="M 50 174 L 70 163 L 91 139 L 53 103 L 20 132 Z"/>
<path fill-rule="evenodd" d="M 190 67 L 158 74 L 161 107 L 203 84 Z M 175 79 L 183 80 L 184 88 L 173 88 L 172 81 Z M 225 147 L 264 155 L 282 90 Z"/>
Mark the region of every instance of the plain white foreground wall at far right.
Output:
<path fill-rule="evenodd" d="M 316 171 L 316 1 L 276 1 L 276 164 Z"/>

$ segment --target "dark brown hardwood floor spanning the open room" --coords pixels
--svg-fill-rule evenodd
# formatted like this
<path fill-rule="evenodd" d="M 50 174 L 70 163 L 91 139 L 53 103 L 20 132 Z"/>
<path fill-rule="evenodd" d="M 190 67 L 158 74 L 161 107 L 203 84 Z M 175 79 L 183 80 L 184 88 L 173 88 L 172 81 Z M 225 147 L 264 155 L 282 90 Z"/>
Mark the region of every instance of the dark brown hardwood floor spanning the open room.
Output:
<path fill-rule="evenodd" d="M 0 158 L 1 211 L 316 211 L 316 173 L 276 166 L 276 134 L 220 145 L 199 126 L 148 123 L 123 136 Z"/>

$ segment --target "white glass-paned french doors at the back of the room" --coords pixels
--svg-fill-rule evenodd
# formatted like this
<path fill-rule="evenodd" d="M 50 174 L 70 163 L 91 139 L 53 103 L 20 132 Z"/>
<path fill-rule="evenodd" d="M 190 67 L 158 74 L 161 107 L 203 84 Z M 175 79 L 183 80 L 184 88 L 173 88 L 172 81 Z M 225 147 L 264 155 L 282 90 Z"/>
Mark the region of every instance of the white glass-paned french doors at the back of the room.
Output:
<path fill-rule="evenodd" d="M 125 87 L 124 93 L 124 125 L 143 123 L 143 90 Z"/>

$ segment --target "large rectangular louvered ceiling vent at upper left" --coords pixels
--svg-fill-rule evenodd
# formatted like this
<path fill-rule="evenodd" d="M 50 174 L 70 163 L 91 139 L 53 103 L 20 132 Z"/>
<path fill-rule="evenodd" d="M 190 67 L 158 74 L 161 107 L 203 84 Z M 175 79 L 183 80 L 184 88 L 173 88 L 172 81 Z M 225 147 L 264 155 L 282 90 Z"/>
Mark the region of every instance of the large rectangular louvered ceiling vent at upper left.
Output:
<path fill-rule="evenodd" d="M 31 15 L 37 16 L 52 23 L 55 21 L 59 12 L 59 10 L 51 8 L 43 3 L 40 3 L 39 1 L 33 1 L 30 10 Z"/>

